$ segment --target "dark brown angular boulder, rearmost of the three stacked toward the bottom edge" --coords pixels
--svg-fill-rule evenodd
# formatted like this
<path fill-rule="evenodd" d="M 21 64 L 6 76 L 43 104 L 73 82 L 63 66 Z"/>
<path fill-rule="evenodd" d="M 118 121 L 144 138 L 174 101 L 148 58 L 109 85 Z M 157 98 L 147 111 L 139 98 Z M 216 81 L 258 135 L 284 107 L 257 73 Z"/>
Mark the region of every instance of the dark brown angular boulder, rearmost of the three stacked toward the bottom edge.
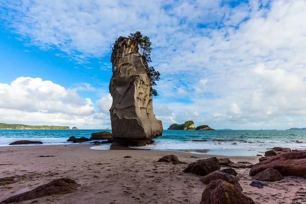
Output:
<path fill-rule="evenodd" d="M 197 160 L 184 169 L 185 173 L 195 173 L 197 175 L 207 175 L 213 171 L 220 170 L 220 164 L 216 157 Z"/>

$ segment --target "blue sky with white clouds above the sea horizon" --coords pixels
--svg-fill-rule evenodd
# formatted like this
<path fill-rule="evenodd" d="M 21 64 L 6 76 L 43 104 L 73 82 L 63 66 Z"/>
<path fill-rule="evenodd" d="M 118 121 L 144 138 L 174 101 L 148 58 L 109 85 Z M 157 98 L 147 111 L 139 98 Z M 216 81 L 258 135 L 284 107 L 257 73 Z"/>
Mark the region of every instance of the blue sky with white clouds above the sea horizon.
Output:
<path fill-rule="evenodd" d="M 164 129 L 306 126 L 303 0 L 2 0 L 0 17 L 0 122 L 110 127 L 110 44 L 141 31 Z"/>

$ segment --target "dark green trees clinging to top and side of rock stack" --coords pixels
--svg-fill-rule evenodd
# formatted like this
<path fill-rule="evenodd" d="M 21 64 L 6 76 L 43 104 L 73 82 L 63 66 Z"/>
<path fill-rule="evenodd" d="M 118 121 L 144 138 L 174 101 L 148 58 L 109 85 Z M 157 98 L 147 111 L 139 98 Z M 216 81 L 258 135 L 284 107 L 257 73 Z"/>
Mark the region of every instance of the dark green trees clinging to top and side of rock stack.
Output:
<path fill-rule="evenodd" d="M 142 60 L 143 60 L 143 63 L 146 67 L 146 70 L 147 70 L 147 74 L 148 74 L 148 77 L 150 79 L 150 84 L 151 84 L 151 88 L 150 88 L 150 93 L 151 95 L 154 95 L 154 96 L 157 96 L 158 93 L 157 93 L 157 90 L 152 88 L 152 86 L 156 86 L 157 85 L 157 81 L 160 80 L 160 72 L 159 71 L 156 71 L 154 67 L 152 66 L 149 66 L 149 63 L 152 62 L 151 60 L 151 51 L 152 51 L 152 47 L 151 47 L 151 42 L 150 42 L 150 38 L 147 37 L 147 36 L 143 36 L 141 34 L 141 32 L 137 31 L 135 33 L 131 33 L 129 36 L 127 36 L 129 38 L 132 38 L 134 40 L 137 41 L 138 43 L 138 46 L 140 48 L 140 55 L 142 57 Z M 115 47 L 115 45 L 120 42 L 122 40 L 122 38 L 124 37 L 119 37 L 116 39 L 116 41 L 113 43 L 113 45 L 111 46 L 112 48 Z"/>

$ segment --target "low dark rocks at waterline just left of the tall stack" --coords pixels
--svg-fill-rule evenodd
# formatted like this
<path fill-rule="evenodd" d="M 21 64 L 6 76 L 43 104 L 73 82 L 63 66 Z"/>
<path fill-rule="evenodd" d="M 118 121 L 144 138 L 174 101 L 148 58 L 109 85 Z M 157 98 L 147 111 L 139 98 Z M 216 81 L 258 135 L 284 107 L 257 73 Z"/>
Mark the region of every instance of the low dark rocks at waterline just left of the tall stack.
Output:
<path fill-rule="evenodd" d="M 86 137 L 81 137 L 81 138 L 76 138 L 74 136 L 71 136 L 67 142 L 72 142 L 72 143 L 82 143 L 82 142 L 88 142 L 92 140 L 107 140 L 103 142 L 98 142 L 94 141 L 92 143 L 95 144 L 106 144 L 106 143 L 112 143 L 112 133 L 104 131 L 104 132 L 98 132 L 98 133 L 92 133 L 90 138 Z"/>

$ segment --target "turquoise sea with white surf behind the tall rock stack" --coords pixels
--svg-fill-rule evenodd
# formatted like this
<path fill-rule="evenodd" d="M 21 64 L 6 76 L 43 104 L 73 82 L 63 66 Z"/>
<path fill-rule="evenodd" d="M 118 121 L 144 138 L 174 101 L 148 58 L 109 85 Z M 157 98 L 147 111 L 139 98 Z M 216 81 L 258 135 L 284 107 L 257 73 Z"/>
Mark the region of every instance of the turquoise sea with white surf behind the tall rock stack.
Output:
<path fill-rule="evenodd" d="M 44 144 L 72 144 L 66 142 L 70 136 L 90 137 L 91 133 L 107 130 L 0 130 L 0 146 L 7 146 L 16 140 L 38 140 Z M 109 130 L 109 132 L 111 132 Z M 155 143 L 140 148 L 180 150 L 218 154 L 222 150 L 244 152 L 256 155 L 275 146 L 292 149 L 306 148 L 306 131 L 163 131 Z M 217 153 L 216 153 L 217 152 Z M 233 152 L 233 151 L 231 151 Z M 236 153 L 237 154 L 237 153 Z"/>

